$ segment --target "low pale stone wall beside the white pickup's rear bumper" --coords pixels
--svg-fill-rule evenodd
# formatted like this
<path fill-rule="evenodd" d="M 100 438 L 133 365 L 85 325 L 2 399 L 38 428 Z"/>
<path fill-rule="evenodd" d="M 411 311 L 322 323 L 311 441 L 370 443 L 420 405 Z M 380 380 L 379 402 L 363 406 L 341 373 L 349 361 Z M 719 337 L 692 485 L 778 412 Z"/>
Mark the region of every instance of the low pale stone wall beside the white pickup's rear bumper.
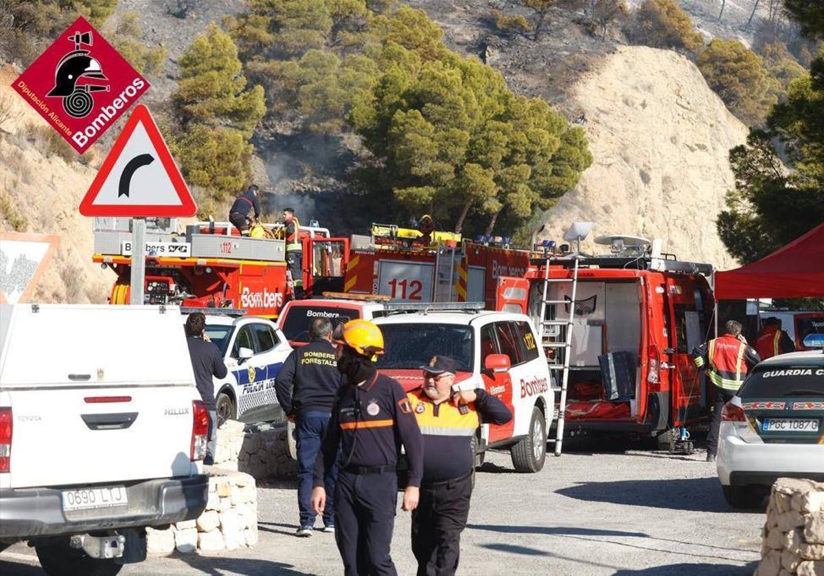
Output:
<path fill-rule="evenodd" d="M 255 479 L 231 470 L 208 467 L 208 503 L 196 520 L 172 524 L 166 530 L 146 529 L 149 555 L 217 552 L 255 546 L 257 487 Z"/>

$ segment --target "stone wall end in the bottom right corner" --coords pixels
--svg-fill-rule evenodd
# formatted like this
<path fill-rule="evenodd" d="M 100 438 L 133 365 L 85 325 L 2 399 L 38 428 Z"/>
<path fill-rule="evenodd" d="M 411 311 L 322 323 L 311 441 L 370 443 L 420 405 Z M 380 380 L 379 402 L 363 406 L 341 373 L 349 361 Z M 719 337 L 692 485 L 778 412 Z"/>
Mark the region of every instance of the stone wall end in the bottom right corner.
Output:
<path fill-rule="evenodd" d="M 767 507 L 756 576 L 824 576 L 824 483 L 781 478 Z"/>

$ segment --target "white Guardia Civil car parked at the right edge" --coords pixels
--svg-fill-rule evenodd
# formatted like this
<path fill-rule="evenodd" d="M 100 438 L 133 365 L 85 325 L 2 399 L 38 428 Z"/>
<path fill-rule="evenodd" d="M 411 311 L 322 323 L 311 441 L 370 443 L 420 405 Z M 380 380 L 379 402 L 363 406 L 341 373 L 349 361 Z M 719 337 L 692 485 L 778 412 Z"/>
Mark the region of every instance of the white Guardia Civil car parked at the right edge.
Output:
<path fill-rule="evenodd" d="M 756 365 L 722 414 L 716 466 L 734 508 L 761 504 L 781 476 L 824 481 L 824 351 Z"/>

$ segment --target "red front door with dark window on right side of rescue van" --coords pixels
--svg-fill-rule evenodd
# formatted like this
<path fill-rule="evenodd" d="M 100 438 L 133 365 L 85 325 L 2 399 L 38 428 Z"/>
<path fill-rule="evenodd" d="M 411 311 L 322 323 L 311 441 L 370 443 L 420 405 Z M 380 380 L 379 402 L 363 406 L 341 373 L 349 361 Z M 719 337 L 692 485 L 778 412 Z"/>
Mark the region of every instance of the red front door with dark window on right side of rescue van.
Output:
<path fill-rule="evenodd" d="M 694 290 L 695 288 L 695 290 Z M 701 379 L 692 351 L 705 334 L 705 302 L 700 290 L 689 282 L 667 278 L 669 346 L 662 351 L 662 382 L 669 374 L 672 425 L 700 416 L 706 406 Z"/>

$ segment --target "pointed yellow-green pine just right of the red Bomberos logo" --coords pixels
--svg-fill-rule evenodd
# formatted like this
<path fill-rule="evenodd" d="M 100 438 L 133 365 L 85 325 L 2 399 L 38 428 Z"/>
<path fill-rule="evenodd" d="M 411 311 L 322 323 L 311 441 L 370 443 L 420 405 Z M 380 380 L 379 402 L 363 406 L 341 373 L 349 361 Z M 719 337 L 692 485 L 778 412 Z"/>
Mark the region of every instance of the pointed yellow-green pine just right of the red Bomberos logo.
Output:
<path fill-rule="evenodd" d="M 237 47 L 215 25 L 180 58 L 180 81 L 172 100 L 184 127 L 232 126 L 250 135 L 265 113 L 263 87 L 246 90 Z"/>

